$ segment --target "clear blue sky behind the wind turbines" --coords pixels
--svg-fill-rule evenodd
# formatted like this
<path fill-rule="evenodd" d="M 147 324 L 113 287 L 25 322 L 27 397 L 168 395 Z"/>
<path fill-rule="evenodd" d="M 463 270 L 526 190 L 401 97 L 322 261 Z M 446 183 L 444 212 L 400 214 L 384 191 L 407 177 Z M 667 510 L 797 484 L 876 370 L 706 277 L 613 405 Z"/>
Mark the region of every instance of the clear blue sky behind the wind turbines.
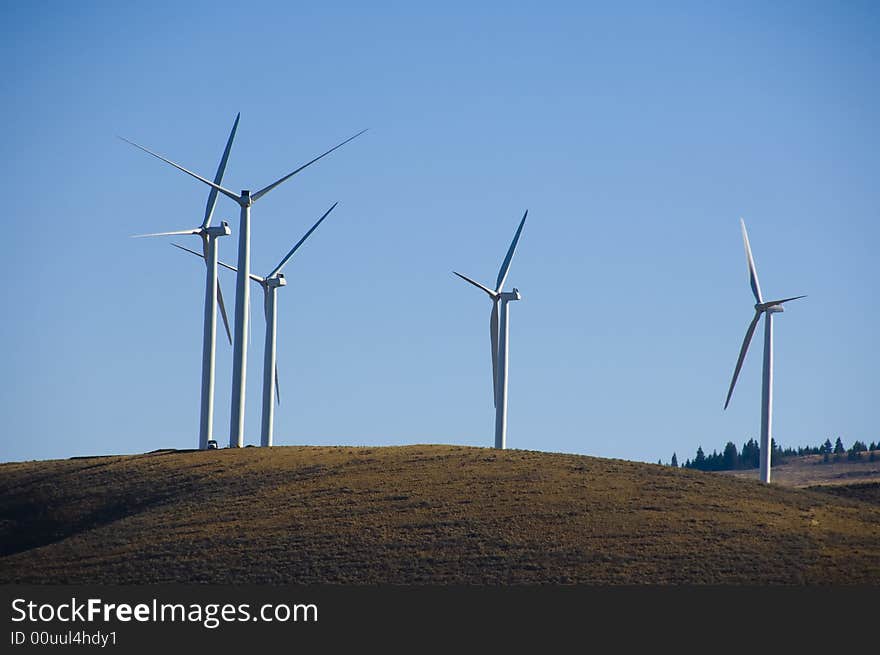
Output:
<path fill-rule="evenodd" d="M 683 461 L 757 437 L 759 338 L 722 411 L 753 311 L 740 216 L 765 295 L 808 294 L 775 322 L 777 441 L 880 438 L 875 3 L 7 2 L 2 16 L 0 460 L 196 446 L 204 269 L 129 235 L 197 225 L 207 189 L 116 136 L 210 177 L 237 112 L 236 191 L 370 128 L 253 210 L 267 273 L 339 201 L 279 292 L 276 443 L 491 445 L 490 303 L 451 271 L 494 281 L 526 208 L 510 447 Z M 233 263 L 237 211 L 221 197 L 215 214 Z M 231 311 L 232 275 L 221 284 Z"/>

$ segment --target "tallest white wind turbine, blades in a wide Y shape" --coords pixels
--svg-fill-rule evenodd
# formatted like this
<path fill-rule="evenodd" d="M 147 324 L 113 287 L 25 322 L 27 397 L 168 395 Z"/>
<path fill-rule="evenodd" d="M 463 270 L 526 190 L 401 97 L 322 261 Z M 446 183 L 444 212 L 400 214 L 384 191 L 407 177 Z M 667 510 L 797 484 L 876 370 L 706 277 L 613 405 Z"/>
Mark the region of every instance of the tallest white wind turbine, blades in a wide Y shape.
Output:
<path fill-rule="evenodd" d="M 232 407 L 230 409 L 229 426 L 230 448 L 241 448 L 244 445 L 244 404 L 246 388 L 245 382 L 247 377 L 248 345 L 247 335 L 250 310 L 250 287 L 248 285 L 248 276 L 251 270 L 251 205 L 253 205 L 264 195 L 269 193 L 279 184 L 286 182 L 303 169 L 308 168 L 319 159 L 326 157 L 337 148 L 341 148 L 346 143 L 348 143 L 352 139 L 359 137 L 364 132 L 366 132 L 366 130 L 361 130 L 354 136 L 350 136 L 345 141 L 330 148 L 330 150 L 328 150 L 327 152 L 318 155 L 317 157 L 303 164 L 296 170 L 272 182 L 272 184 L 270 184 L 269 186 L 263 187 L 256 193 L 251 193 L 247 189 L 242 190 L 241 193 L 233 193 L 229 189 L 226 189 L 215 182 L 211 182 L 210 180 L 202 177 L 201 175 L 198 175 L 197 173 L 193 173 L 192 171 L 184 168 L 179 164 L 174 163 L 170 159 L 166 159 L 162 155 L 159 155 L 152 150 L 149 150 L 141 145 L 138 145 L 137 143 L 129 141 L 128 139 L 122 139 L 126 143 L 130 143 L 134 147 L 143 150 L 153 157 L 161 159 L 166 164 L 170 164 L 179 171 L 182 171 L 183 173 L 186 173 L 187 175 L 190 175 L 191 177 L 194 177 L 195 179 L 207 184 L 212 189 L 219 191 L 227 198 L 230 198 L 237 202 L 239 207 L 241 208 L 238 231 L 238 277 L 235 281 L 235 343 L 233 345 L 232 353 Z"/>

